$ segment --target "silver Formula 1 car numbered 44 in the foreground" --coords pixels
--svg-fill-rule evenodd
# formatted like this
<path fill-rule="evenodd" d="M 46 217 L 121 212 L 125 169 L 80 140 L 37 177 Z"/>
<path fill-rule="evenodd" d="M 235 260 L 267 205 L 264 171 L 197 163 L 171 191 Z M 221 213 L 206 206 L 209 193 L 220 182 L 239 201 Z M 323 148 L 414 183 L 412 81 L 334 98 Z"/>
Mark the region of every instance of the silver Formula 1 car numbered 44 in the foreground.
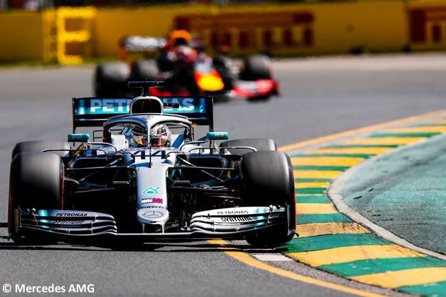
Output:
<path fill-rule="evenodd" d="M 73 98 L 67 142 L 16 144 L 10 238 L 244 237 L 273 246 L 295 235 L 290 158 L 271 139 L 227 140 L 213 132 L 211 97 L 150 96 L 159 85 L 130 82 L 144 90 L 134 99 Z M 193 140 L 193 125 L 209 132 Z M 98 126 L 93 141 L 75 133 Z"/>

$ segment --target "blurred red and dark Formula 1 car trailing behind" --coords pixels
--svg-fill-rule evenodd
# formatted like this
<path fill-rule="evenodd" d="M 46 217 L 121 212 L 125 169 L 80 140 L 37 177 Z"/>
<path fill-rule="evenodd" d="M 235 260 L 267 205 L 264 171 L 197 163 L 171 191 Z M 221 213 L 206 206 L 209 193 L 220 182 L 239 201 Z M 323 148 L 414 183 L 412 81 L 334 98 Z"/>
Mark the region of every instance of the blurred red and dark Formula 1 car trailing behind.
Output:
<path fill-rule="evenodd" d="M 173 31 L 167 39 L 131 36 L 121 41 L 120 49 L 123 62 L 97 65 L 93 82 L 97 97 L 138 95 L 128 93 L 129 80 L 163 80 L 164 88 L 152 90 L 157 96 L 212 95 L 218 100 L 279 94 L 267 56 L 250 56 L 236 67 L 227 56 L 207 56 L 203 43 L 191 40 L 185 30 Z M 144 53 L 145 58 L 124 62 L 135 53 Z"/>

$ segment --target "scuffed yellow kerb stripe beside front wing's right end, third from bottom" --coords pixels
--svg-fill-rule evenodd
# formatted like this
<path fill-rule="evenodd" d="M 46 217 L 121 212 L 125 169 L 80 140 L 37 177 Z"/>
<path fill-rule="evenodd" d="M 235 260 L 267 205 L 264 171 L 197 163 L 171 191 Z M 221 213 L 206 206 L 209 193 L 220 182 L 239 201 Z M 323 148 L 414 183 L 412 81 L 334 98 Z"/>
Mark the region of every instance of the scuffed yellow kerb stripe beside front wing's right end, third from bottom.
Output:
<path fill-rule="evenodd" d="M 299 238 L 331 234 L 358 234 L 370 231 L 355 222 L 312 223 L 296 226 Z"/>

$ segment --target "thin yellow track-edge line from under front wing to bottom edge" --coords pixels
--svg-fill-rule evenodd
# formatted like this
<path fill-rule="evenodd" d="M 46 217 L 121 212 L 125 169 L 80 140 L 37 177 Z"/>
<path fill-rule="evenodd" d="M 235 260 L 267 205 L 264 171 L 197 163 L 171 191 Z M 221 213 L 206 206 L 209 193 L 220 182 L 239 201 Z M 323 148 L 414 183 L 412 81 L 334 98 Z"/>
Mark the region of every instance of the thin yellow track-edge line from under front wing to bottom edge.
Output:
<path fill-rule="evenodd" d="M 328 289 L 333 289 L 339 292 L 344 292 L 347 294 L 355 294 L 357 296 L 364 296 L 364 297 L 384 297 L 384 295 L 370 293 L 366 291 L 362 291 L 360 289 L 353 289 L 351 287 L 346 287 L 344 285 L 337 285 L 335 283 L 329 283 L 327 281 L 320 281 L 316 278 L 311 278 L 309 276 L 303 276 L 301 274 L 296 274 L 294 272 L 290 272 L 288 270 L 283 270 L 281 268 L 276 268 L 274 266 L 270 266 L 268 264 L 265 264 L 261 261 L 258 261 L 254 259 L 253 257 L 250 257 L 248 254 L 242 252 L 242 251 L 233 251 L 228 250 L 231 248 L 224 247 L 224 245 L 227 245 L 228 243 L 224 240 L 217 239 L 217 240 L 209 240 L 209 243 L 215 244 L 215 245 L 223 245 L 221 248 L 222 250 L 226 250 L 224 253 L 228 254 L 228 256 L 233 257 L 234 259 L 237 259 L 238 261 L 241 261 L 242 263 L 245 263 L 247 265 L 250 265 L 251 267 L 266 270 L 268 272 L 277 274 L 279 276 L 283 276 L 286 278 L 294 279 L 295 281 L 301 281 L 303 283 L 309 283 L 311 285 L 317 285 L 319 287 L 326 287 Z"/>

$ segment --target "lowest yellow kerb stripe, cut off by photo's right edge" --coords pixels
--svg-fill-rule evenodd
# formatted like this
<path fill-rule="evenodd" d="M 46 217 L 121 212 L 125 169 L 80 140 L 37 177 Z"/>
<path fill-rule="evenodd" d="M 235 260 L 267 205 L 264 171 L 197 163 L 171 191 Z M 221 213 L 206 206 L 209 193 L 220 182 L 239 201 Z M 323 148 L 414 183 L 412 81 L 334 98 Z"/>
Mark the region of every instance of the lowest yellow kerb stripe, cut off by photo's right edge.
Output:
<path fill-rule="evenodd" d="M 438 283 L 446 281 L 446 267 L 415 268 L 353 276 L 351 279 L 379 285 L 380 287 L 404 287 L 406 285 L 424 285 L 426 283 Z"/>

